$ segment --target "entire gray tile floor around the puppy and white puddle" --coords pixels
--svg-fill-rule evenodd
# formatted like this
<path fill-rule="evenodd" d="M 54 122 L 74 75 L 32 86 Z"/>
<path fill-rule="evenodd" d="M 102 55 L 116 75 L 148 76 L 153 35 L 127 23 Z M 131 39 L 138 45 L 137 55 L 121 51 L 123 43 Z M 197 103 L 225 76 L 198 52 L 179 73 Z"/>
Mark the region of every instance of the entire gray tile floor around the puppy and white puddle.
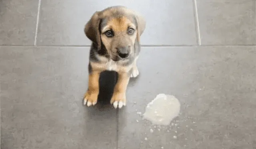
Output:
<path fill-rule="evenodd" d="M 140 76 L 88 108 L 83 27 L 113 5 L 146 18 Z M 1 149 L 256 149 L 255 45 L 256 0 L 0 0 Z M 159 93 L 182 103 L 168 127 L 136 113 Z"/>

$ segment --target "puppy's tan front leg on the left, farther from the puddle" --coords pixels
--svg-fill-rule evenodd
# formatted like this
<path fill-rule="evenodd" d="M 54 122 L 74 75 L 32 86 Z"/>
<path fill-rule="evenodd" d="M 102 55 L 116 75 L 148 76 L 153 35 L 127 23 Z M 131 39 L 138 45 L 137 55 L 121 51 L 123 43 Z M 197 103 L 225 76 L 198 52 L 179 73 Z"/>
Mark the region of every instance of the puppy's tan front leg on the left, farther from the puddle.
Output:
<path fill-rule="evenodd" d="M 84 94 L 84 105 L 95 105 L 98 100 L 98 94 L 100 91 L 99 86 L 100 71 L 92 71 L 89 74 L 88 90 Z"/>

